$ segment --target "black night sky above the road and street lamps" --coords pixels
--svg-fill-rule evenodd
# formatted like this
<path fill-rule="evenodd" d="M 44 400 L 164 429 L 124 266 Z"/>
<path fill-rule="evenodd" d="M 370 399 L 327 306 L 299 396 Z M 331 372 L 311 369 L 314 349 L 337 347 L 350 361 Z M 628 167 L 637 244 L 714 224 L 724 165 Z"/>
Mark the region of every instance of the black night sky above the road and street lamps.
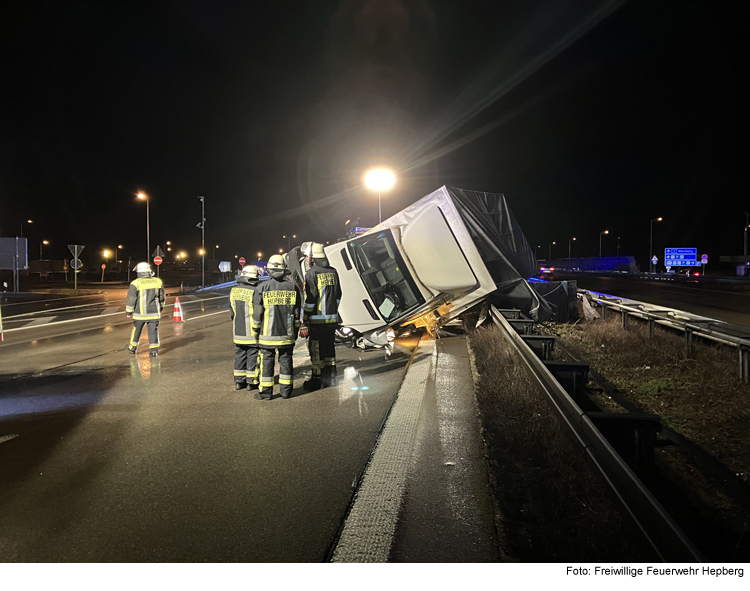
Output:
<path fill-rule="evenodd" d="M 333 241 L 441 185 L 504 193 L 554 256 L 742 254 L 741 0 L 5 0 L 0 231 L 31 258 Z M 86 253 L 88 254 L 88 253 Z M 83 257 L 84 260 L 86 256 Z"/>

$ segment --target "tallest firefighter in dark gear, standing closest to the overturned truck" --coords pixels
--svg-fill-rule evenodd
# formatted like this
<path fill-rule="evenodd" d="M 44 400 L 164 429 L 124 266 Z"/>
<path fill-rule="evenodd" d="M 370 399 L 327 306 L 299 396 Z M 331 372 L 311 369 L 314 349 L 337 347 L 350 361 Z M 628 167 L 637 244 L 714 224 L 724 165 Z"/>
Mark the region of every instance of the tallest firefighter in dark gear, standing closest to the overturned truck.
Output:
<path fill-rule="evenodd" d="M 309 336 L 307 349 L 313 369 L 304 388 L 317 390 L 336 385 L 335 333 L 339 325 L 341 282 L 336 269 L 328 264 L 322 244 L 312 244 L 308 263 L 301 335 Z"/>

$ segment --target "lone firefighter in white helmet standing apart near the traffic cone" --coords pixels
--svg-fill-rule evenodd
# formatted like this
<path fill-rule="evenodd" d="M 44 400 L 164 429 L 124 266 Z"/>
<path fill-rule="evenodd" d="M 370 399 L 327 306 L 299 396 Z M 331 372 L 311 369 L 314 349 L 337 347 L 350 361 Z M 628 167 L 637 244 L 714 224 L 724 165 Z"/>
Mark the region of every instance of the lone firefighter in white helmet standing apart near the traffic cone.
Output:
<path fill-rule="evenodd" d="M 161 279 L 154 277 L 148 263 L 138 263 L 135 272 L 136 278 L 130 283 L 125 305 L 125 315 L 133 319 L 128 351 L 135 355 L 141 331 L 147 325 L 148 349 L 151 357 L 156 357 L 159 350 L 159 318 L 165 301 L 164 284 Z"/>

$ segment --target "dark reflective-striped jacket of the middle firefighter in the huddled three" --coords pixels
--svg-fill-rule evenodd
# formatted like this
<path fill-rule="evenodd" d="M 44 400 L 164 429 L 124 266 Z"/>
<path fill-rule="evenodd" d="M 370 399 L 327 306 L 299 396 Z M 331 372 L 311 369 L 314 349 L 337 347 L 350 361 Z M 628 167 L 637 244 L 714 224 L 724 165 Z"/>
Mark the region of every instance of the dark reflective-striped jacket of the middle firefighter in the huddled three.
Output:
<path fill-rule="evenodd" d="M 253 331 L 261 347 L 291 347 L 300 326 L 302 294 L 284 273 L 270 271 L 259 283 L 253 299 Z"/>

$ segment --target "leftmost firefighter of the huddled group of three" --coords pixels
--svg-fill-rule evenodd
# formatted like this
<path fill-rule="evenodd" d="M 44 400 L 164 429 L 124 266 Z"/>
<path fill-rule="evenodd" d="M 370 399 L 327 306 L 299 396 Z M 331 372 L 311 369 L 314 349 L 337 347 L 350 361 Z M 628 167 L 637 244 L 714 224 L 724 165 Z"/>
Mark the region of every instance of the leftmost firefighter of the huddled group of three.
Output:
<path fill-rule="evenodd" d="M 234 389 L 258 388 L 258 335 L 252 330 L 253 297 L 258 286 L 260 268 L 242 268 L 237 285 L 229 293 L 234 340 Z"/>

